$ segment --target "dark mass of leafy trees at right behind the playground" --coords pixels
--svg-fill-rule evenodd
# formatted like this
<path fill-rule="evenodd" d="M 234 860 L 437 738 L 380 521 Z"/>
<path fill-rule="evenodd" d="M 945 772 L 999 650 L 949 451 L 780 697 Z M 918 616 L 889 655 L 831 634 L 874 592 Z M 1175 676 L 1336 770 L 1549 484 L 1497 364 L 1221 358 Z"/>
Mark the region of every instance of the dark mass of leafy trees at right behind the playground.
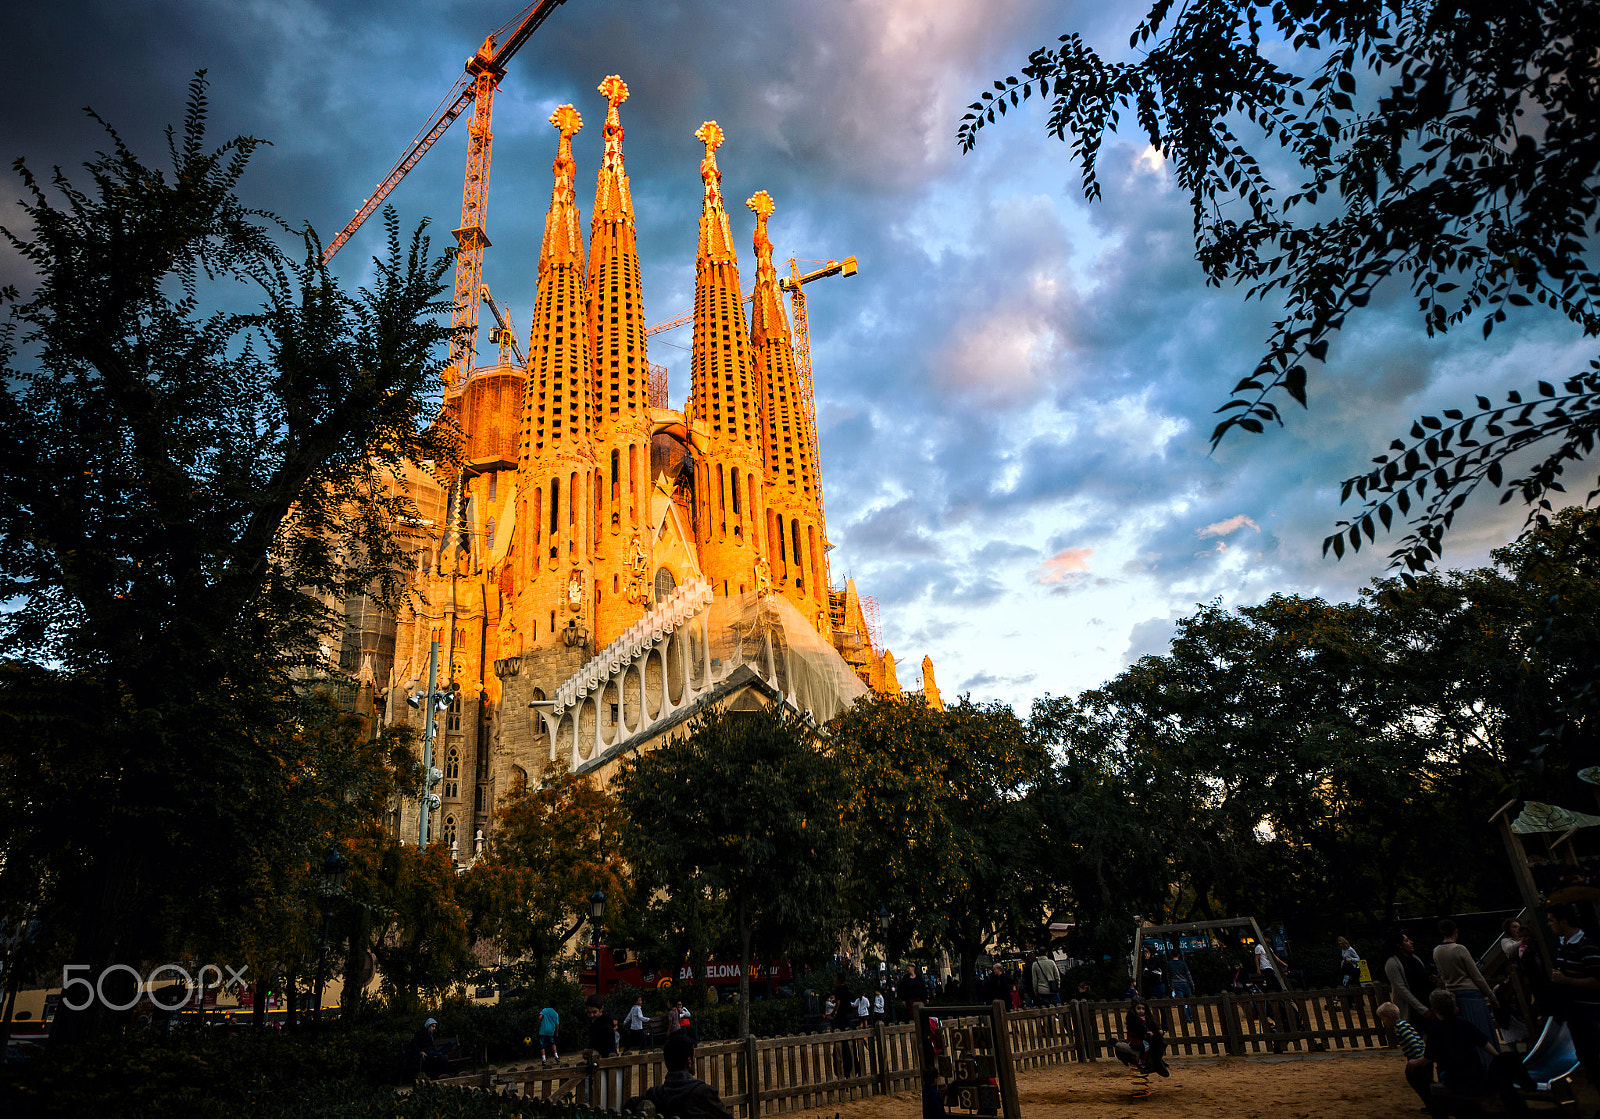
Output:
<path fill-rule="evenodd" d="M 1493 568 L 1205 607 L 1168 653 L 1035 703 L 1058 757 L 1032 792 L 1040 872 L 1091 949 L 1120 951 L 1133 914 L 1326 932 L 1507 903 L 1488 813 L 1590 799 L 1600 712 L 1570 696 L 1592 679 L 1597 546 L 1600 514 L 1566 509 Z"/>

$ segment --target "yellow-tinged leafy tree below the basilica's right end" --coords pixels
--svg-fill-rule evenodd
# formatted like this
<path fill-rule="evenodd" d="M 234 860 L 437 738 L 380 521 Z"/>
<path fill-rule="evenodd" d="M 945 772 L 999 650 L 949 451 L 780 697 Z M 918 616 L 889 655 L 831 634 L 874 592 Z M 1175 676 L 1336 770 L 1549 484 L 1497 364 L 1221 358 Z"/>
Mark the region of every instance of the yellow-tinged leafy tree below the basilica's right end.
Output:
<path fill-rule="evenodd" d="M 1046 837 L 1024 794 L 1046 759 L 1008 706 L 963 696 L 938 711 L 920 695 L 874 695 L 829 733 L 854 778 L 858 896 L 883 898 L 891 945 L 947 945 L 971 985 L 997 938 L 1038 935 L 1051 890 L 1035 847 Z"/>

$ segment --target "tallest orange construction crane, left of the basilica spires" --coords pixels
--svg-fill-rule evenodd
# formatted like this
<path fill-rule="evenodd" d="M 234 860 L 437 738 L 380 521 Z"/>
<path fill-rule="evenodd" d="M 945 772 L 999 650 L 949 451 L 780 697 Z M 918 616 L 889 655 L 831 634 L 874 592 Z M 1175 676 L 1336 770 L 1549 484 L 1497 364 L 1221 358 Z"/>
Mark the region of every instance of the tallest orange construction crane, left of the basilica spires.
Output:
<path fill-rule="evenodd" d="M 456 123 L 466 107 L 472 106 L 470 139 L 467 142 L 467 176 L 461 191 L 461 227 L 454 231 L 459 253 L 456 255 L 456 309 L 451 317 L 450 362 L 445 368 L 446 391 L 458 386 L 472 371 L 472 360 L 478 347 L 478 287 L 483 277 L 483 250 L 490 245 L 483 232 L 483 219 L 490 192 L 490 149 L 494 136 L 490 131 L 490 120 L 494 114 L 494 90 L 506 77 L 506 64 L 512 54 L 522 50 L 528 37 L 539 29 L 552 11 L 566 0 L 534 0 L 504 27 L 490 34 L 477 54 L 467 59 L 466 72 L 456 78 L 443 106 L 434 118 L 411 141 L 411 146 L 390 168 L 384 181 L 378 184 L 371 197 L 362 203 L 339 235 L 328 242 L 322 259 L 330 261 L 333 255 L 344 248 L 362 223 L 378 211 L 389 192 L 400 186 L 418 160 L 427 154 L 445 131 Z"/>

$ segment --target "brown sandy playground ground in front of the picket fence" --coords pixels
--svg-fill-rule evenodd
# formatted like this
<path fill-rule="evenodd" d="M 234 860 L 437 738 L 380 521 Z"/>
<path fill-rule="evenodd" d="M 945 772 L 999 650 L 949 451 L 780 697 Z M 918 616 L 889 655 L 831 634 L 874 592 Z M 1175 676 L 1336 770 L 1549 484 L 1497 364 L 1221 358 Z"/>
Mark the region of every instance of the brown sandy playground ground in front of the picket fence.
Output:
<path fill-rule="evenodd" d="M 1176 1058 L 1171 1069 L 1168 1079 L 1150 1077 L 1144 1100 L 1130 1097 L 1133 1079 L 1117 1061 L 1030 1069 L 1018 1077 L 1022 1119 L 1414 1119 L 1421 1106 L 1397 1050 Z M 818 1108 L 818 1117 L 835 1111 L 840 1119 L 922 1119 L 922 1100 L 874 1097 Z"/>

